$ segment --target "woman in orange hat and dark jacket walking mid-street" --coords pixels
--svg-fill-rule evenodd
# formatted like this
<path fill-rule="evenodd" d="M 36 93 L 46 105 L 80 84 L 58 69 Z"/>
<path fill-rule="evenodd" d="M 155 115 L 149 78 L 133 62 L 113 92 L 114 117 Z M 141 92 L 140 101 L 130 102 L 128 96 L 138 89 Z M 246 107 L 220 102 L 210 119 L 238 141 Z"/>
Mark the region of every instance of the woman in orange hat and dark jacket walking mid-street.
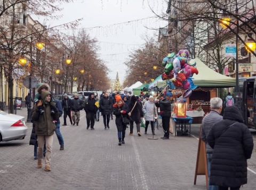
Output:
<path fill-rule="evenodd" d="M 123 117 L 128 117 L 129 107 L 124 103 L 120 95 L 115 96 L 116 103 L 113 105 L 113 114 L 116 116 L 116 127 L 118 135 L 118 145 L 125 144 L 126 125 L 123 123 Z"/>

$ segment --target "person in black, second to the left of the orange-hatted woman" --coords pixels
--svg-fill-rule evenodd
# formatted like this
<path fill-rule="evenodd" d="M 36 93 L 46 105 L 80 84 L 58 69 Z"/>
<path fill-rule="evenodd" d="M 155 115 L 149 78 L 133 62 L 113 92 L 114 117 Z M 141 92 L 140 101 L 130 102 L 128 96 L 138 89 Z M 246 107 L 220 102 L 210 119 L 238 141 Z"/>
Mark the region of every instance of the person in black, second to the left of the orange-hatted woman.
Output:
<path fill-rule="evenodd" d="M 86 113 L 86 122 L 87 122 L 87 127 L 86 129 L 89 129 L 91 126 L 91 129 L 94 129 L 94 123 L 95 123 L 95 115 L 97 113 L 98 107 L 95 105 L 95 100 L 94 98 L 94 93 L 90 93 L 88 98 L 85 100 L 85 105 L 84 105 L 84 110 Z"/>

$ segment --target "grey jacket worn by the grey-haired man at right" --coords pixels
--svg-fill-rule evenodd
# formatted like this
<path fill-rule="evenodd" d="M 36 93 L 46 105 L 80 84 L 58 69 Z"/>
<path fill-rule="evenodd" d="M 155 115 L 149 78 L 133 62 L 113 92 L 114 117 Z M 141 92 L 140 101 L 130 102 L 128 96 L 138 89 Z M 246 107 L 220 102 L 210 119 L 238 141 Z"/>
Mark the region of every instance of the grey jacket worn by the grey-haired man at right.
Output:
<path fill-rule="evenodd" d="M 222 120 L 222 116 L 214 110 L 211 110 L 202 120 L 201 139 L 206 143 L 206 153 L 212 153 L 212 148 L 206 142 L 206 137 L 209 134 L 212 126 Z"/>

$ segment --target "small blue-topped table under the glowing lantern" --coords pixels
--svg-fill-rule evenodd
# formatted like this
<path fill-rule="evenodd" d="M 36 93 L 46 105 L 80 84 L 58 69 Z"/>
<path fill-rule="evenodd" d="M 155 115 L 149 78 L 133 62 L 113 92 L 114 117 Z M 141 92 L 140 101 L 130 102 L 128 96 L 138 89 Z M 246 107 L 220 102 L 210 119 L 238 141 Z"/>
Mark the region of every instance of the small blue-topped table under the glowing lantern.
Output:
<path fill-rule="evenodd" d="M 187 116 L 186 118 L 178 118 L 178 117 L 172 117 L 173 122 L 175 123 L 173 135 L 178 136 L 177 127 L 179 129 L 179 132 L 181 132 L 181 135 L 188 135 L 190 136 L 190 130 L 191 130 L 191 123 L 193 123 L 193 118 Z"/>

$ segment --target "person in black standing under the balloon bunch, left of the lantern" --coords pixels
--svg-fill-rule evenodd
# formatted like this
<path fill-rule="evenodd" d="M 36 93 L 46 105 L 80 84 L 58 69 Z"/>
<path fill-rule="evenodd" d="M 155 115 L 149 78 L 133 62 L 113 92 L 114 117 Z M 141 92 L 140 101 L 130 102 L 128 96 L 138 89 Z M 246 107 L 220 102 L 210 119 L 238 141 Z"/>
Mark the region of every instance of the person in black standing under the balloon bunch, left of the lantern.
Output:
<path fill-rule="evenodd" d="M 164 99 L 158 100 L 156 99 L 155 103 L 156 107 L 160 108 L 160 113 L 162 117 L 162 125 L 163 125 L 163 131 L 164 131 L 164 136 L 161 137 L 161 139 L 166 140 L 169 139 L 170 135 L 170 117 L 171 117 L 171 101 L 169 99 Z"/>

